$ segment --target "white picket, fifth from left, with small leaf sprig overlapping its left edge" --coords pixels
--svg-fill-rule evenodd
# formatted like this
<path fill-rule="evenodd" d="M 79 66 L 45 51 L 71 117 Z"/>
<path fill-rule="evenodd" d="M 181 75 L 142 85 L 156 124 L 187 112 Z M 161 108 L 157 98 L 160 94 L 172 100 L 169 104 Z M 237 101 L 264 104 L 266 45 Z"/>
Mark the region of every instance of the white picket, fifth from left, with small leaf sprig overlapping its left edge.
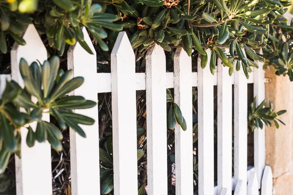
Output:
<path fill-rule="evenodd" d="M 191 57 L 183 48 L 174 56 L 174 101 L 187 123 L 186 131 L 175 126 L 176 195 L 193 195 Z"/>

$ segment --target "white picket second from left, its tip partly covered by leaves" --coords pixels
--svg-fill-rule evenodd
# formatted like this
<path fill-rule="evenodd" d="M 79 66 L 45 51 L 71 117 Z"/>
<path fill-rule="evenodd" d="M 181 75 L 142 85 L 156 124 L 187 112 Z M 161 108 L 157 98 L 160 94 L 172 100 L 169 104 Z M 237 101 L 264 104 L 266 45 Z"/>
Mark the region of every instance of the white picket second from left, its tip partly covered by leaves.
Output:
<path fill-rule="evenodd" d="M 74 96 L 97 102 L 97 60 L 96 52 L 86 29 L 83 28 L 84 41 L 94 53 L 87 53 L 77 42 L 70 46 L 67 60 L 68 69 L 73 70 L 74 77 L 84 77 L 84 84 L 74 90 Z M 98 106 L 85 110 L 75 110 L 75 113 L 91 117 L 95 123 L 91 126 L 80 125 L 86 138 L 79 136 L 70 129 L 70 159 L 72 195 L 90 195 L 100 193 L 100 162 L 99 162 L 99 118 Z M 90 187 L 94 186 L 94 188 Z"/>

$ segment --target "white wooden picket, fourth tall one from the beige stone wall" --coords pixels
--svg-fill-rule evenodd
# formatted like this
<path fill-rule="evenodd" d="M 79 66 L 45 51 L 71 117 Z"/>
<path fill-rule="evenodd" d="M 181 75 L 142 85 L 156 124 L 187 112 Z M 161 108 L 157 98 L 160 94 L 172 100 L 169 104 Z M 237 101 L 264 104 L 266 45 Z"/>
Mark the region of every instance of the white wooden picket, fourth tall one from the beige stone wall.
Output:
<path fill-rule="evenodd" d="M 210 50 L 207 50 L 207 68 L 200 67 L 198 58 L 198 190 L 199 195 L 212 195 L 214 187 L 214 121 L 213 76 L 209 71 Z"/>

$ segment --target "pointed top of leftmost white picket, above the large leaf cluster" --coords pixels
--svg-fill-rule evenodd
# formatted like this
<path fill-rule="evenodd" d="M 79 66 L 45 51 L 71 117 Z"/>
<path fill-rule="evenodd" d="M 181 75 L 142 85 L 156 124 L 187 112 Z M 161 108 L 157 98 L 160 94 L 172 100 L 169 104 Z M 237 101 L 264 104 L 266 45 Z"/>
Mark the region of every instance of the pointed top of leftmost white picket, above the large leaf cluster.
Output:
<path fill-rule="evenodd" d="M 26 44 L 20 45 L 15 42 L 11 50 L 11 77 L 21 87 L 24 86 L 19 68 L 21 58 L 25 59 L 29 65 L 33 61 L 39 60 L 43 63 L 47 59 L 47 50 L 33 24 L 27 26 L 22 39 L 25 40 Z"/>

